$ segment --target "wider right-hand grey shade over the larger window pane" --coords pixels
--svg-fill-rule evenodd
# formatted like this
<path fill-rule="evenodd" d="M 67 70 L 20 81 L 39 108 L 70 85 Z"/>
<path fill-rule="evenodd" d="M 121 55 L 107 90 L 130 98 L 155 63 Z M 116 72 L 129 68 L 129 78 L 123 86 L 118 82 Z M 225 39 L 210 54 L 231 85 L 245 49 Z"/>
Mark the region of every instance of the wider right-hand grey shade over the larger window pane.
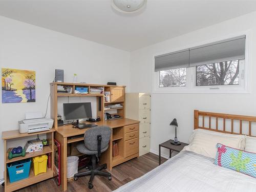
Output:
<path fill-rule="evenodd" d="M 190 48 L 189 67 L 245 58 L 245 35 Z"/>

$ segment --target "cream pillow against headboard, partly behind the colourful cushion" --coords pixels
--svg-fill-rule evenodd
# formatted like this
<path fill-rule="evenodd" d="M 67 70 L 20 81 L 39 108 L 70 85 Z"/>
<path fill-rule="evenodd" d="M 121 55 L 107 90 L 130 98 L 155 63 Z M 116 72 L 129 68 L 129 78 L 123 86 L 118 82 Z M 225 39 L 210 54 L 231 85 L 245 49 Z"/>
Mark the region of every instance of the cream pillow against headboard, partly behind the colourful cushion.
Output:
<path fill-rule="evenodd" d="M 217 154 L 217 143 L 244 150 L 245 136 L 196 129 L 189 141 L 190 144 L 184 147 L 184 151 L 191 151 L 215 158 Z"/>

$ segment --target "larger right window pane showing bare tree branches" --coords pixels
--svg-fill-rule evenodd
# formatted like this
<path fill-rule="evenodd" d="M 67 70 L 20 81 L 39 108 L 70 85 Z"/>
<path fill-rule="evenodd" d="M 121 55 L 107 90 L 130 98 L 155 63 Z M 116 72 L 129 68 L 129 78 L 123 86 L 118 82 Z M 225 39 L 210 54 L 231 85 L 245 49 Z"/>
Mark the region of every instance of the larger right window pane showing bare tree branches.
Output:
<path fill-rule="evenodd" d="M 197 86 L 239 84 L 239 63 L 231 60 L 197 66 Z"/>

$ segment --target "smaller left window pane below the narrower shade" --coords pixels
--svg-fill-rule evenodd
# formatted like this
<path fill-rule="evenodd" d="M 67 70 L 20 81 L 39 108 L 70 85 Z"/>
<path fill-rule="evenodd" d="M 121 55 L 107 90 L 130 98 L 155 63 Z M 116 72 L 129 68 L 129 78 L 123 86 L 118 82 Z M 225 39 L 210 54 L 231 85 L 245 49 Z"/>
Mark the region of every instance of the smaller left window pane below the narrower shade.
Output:
<path fill-rule="evenodd" d="M 160 71 L 159 78 L 159 87 L 184 87 L 186 86 L 186 68 Z"/>

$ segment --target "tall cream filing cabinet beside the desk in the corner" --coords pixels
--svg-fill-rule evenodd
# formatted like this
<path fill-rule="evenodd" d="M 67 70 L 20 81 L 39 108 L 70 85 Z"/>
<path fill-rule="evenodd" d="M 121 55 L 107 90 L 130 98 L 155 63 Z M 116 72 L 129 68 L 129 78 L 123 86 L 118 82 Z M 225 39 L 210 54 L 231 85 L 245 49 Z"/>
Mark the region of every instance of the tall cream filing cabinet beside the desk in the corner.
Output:
<path fill-rule="evenodd" d="M 126 93 L 125 117 L 140 121 L 139 156 L 150 152 L 151 95 Z"/>

